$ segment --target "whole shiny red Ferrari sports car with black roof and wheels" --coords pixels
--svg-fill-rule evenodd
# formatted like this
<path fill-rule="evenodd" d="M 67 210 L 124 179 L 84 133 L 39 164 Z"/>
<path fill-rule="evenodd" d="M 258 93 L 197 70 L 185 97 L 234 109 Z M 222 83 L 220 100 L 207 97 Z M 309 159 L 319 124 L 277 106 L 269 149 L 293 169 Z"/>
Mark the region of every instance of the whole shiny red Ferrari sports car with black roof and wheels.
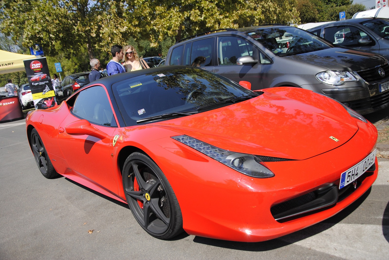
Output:
<path fill-rule="evenodd" d="M 377 129 L 295 87 L 201 68 L 106 77 L 26 118 L 41 173 L 128 204 L 151 236 L 264 241 L 329 218 L 377 177 Z"/>

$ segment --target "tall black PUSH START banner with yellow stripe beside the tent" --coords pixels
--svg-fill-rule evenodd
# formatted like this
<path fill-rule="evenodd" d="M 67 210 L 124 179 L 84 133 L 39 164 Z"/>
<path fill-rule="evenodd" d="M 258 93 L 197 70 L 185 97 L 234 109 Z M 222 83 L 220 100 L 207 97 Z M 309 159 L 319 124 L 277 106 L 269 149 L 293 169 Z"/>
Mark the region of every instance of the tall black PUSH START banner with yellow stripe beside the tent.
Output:
<path fill-rule="evenodd" d="M 23 61 L 30 83 L 35 109 L 46 109 L 56 104 L 46 57 Z"/>

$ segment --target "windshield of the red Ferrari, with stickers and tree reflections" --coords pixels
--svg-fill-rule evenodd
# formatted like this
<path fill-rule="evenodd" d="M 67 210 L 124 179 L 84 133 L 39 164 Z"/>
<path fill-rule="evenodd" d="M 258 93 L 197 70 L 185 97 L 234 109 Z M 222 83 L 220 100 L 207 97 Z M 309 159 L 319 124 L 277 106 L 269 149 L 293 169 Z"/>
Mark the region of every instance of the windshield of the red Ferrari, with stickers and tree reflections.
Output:
<path fill-rule="evenodd" d="M 127 126 L 149 117 L 203 112 L 230 105 L 228 101 L 232 99 L 243 101 L 257 95 L 223 76 L 198 68 L 146 73 L 113 84 L 112 91 Z M 170 118 L 159 120 L 163 119 Z"/>

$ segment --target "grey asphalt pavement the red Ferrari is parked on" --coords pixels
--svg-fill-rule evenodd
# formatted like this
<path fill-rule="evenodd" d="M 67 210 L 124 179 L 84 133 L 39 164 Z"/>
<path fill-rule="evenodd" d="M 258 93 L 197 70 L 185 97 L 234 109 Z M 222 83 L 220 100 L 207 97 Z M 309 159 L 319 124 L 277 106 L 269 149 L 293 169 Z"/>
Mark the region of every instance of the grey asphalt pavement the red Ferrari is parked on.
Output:
<path fill-rule="evenodd" d="M 366 118 L 380 127 L 387 115 Z M 186 233 L 155 239 L 126 204 L 64 177 L 44 178 L 25 120 L 0 124 L 0 158 L 0 260 L 389 258 L 388 159 L 380 158 L 371 189 L 337 215 L 278 239 L 240 243 Z"/>

